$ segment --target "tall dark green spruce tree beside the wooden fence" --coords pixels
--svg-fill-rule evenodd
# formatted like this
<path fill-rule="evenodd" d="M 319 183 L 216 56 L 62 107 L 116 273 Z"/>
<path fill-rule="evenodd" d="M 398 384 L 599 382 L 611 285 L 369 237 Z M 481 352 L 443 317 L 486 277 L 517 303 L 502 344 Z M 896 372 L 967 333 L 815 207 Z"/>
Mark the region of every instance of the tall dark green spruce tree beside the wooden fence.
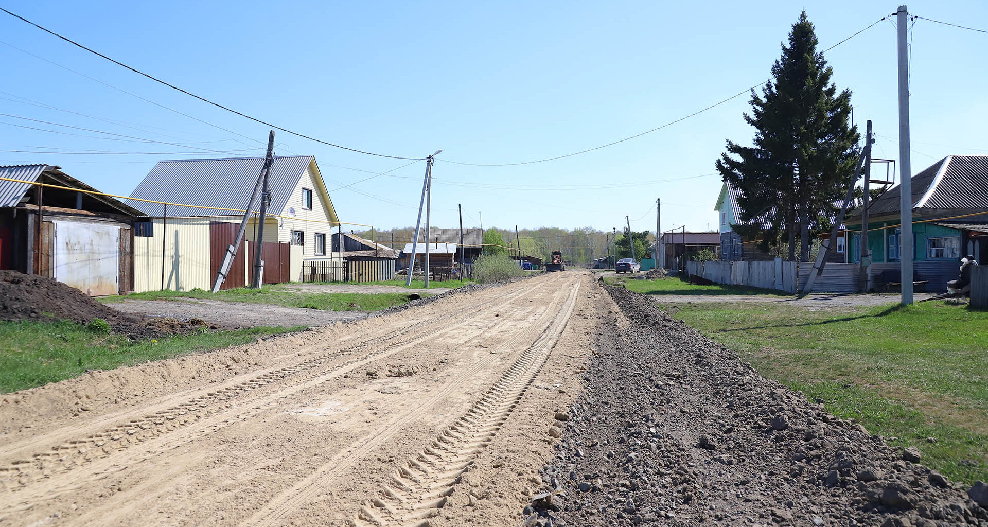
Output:
<path fill-rule="evenodd" d="M 833 68 L 817 51 L 813 24 L 803 11 L 788 45 L 759 96 L 751 92 L 753 146 L 727 141 L 716 162 L 723 181 L 739 191 L 744 225 L 735 230 L 762 237 L 762 248 L 788 244 L 788 259 L 809 257 L 811 233 L 832 226 L 834 205 L 847 192 L 858 158 L 857 127 L 850 126 L 851 91 L 838 93 Z"/>

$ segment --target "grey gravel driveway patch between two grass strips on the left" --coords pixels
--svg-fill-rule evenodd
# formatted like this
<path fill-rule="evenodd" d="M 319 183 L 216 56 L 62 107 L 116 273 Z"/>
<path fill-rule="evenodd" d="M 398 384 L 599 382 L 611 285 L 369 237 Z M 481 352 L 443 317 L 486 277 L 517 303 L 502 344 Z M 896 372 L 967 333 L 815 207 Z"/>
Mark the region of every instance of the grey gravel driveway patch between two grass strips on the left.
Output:
<path fill-rule="evenodd" d="M 270 304 L 220 302 L 201 299 L 176 301 L 125 300 L 108 304 L 124 313 L 139 316 L 168 316 L 180 320 L 201 318 L 218 327 L 239 329 L 267 325 L 320 326 L 342 320 L 359 320 L 373 314 L 370 311 L 326 311 L 304 307 L 282 307 Z"/>

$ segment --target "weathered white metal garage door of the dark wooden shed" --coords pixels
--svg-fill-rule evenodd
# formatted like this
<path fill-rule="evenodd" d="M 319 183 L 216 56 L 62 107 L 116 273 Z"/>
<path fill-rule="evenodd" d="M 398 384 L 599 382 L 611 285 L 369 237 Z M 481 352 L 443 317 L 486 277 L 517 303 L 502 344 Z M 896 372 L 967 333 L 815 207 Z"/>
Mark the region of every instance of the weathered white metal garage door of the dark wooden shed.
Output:
<path fill-rule="evenodd" d="M 55 221 L 55 280 L 90 297 L 120 292 L 120 227 Z"/>

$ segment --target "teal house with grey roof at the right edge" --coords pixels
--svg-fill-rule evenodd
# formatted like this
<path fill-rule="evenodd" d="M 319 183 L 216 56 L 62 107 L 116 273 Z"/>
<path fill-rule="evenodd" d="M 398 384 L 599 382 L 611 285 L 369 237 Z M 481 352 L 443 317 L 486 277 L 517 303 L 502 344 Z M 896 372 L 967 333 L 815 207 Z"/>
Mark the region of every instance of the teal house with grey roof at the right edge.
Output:
<path fill-rule="evenodd" d="M 988 155 L 949 155 L 912 178 L 913 268 L 929 291 L 945 291 L 957 278 L 959 259 L 988 261 Z M 899 188 L 868 206 L 868 249 L 872 276 L 898 270 L 901 254 Z M 850 261 L 861 261 L 863 210 L 845 221 L 853 231 Z M 959 218 L 958 218 L 959 217 Z"/>

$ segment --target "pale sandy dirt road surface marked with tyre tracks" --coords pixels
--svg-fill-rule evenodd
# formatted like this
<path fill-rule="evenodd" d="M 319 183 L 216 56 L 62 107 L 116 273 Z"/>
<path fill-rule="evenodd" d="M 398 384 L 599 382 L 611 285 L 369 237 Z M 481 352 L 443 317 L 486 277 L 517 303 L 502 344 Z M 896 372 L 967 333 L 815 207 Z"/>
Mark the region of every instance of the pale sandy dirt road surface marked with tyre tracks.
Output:
<path fill-rule="evenodd" d="M 554 273 L 0 398 L 0 526 L 512 525 L 601 288 Z"/>

